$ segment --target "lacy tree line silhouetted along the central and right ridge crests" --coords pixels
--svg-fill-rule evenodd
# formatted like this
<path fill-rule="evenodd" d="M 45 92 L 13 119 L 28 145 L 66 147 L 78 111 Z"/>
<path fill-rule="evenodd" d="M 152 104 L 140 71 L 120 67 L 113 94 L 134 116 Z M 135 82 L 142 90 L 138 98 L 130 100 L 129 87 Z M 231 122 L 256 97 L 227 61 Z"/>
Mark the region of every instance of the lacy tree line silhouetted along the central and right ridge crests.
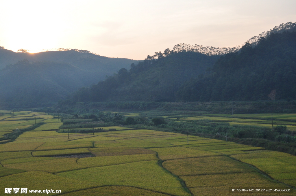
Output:
<path fill-rule="evenodd" d="M 251 37 L 249 40 L 247 40 L 245 43 L 242 45 L 238 45 L 232 48 L 215 48 L 215 47 L 210 47 L 210 46 L 202 46 L 202 45 L 189 45 L 189 44 L 177 44 L 174 46 L 173 51 L 179 52 L 179 51 L 193 51 L 193 52 L 198 52 L 202 53 L 205 55 L 225 55 L 227 53 L 231 52 L 237 52 L 239 51 L 242 46 L 244 46 L 246 43 L 249 43 L 253 47 L 258 44 L 258 40 L 260 37 L 268 37 L 272 33 L 282 33 L 284 31 L 295 31 L 296 30 L 296 22 L 287 22 L 286 24 L 281 24 L 279 26 L 275 26 L 273 29 L 270 31 L 262 32 L 261 34 Z"/>

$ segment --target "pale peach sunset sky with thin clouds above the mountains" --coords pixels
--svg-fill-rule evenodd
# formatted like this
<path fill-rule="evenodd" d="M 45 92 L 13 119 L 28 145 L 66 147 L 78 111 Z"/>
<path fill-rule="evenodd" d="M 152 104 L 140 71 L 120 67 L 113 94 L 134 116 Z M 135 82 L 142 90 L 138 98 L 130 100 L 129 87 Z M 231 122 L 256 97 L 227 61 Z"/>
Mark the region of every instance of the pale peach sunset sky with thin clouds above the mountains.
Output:
<path fill-rule="evenodd" d="M 178 43 L 240 45 L 296 22 L 295 0 L 0 0 L 0 46 L 142 60 Z"/>

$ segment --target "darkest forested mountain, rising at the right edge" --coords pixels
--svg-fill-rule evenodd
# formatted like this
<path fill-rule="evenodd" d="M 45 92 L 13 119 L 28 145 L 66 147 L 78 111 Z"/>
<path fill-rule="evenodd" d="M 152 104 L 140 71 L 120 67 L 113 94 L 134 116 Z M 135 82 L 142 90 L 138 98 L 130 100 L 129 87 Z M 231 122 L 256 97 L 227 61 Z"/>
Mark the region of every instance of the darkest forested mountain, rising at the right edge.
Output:
<path fill-rule="evenodd" d="M 262 37 L 254 48 L 222 56 L 207 75 L 191 79 L 177 101 L 266 100 L 296 98 L 296 32 Z"/>

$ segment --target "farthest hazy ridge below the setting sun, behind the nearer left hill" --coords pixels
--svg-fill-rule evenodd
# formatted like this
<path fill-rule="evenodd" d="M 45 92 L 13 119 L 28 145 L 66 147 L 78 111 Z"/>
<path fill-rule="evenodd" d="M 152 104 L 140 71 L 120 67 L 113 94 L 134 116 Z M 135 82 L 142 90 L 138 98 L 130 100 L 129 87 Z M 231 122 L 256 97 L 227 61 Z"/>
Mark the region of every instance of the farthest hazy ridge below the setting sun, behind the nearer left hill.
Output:
<path fill-rule="evenodd" d="M 104 80 L 106 75 L 110 76 L 121 68 L 128 69 L 131 63 L 139 61 L 127 58 L 108 58 L 90 53 L 87 50 L 60 49 L 60 51 L 47 51 L 40 53 L 13 52 L 0 47 L 0 69 L 6 65 L 15 64 L 27 59 L 30 62 L 50 61 L 59 63 L 70 63 L 85 71 L 91 71 L 96 75 L 93 82 Z M 25 50 L 24 50 L 25 51 Z"/>

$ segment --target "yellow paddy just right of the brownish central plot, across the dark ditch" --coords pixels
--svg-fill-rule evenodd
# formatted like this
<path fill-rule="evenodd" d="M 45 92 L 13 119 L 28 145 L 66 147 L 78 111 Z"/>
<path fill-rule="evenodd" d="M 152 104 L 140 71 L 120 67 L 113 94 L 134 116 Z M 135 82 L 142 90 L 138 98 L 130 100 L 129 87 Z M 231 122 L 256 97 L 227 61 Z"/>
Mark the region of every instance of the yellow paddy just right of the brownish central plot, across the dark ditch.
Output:
<path fill-rule="evenodd" d="M 158 157 L 161 160 L 219 155 L 218 153 L 214 152 L 200 151 L 180 146 L 169 148 L 152 148 L 152 150 L 158 153 Z"/>

